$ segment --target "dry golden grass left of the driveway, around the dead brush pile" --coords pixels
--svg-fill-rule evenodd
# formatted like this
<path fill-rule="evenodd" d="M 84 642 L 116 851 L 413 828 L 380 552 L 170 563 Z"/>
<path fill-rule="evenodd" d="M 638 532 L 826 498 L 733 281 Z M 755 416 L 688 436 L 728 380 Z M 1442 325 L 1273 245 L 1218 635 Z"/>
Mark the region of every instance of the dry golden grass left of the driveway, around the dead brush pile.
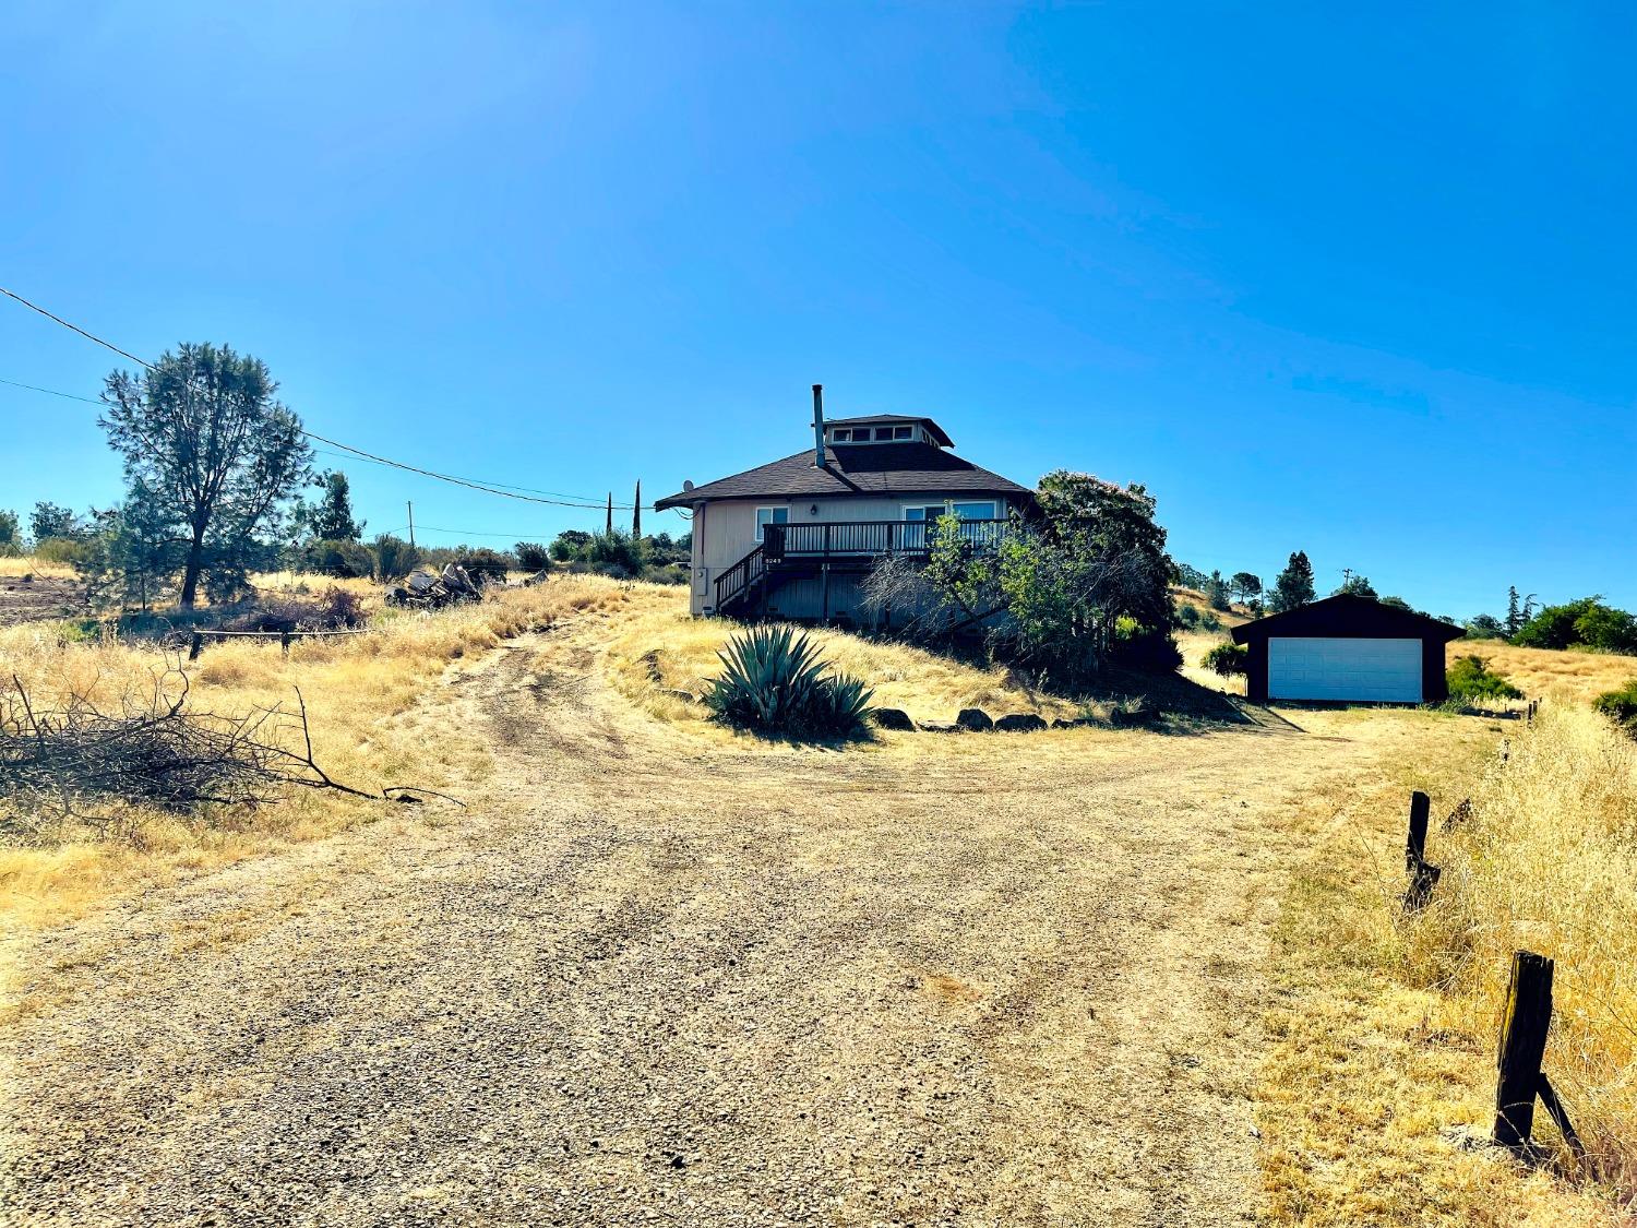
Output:
<path fill-rule="evenodd" d="M 596 576 L 573 576 L 509 591 L 481 606 L 435 614 L 388 612 L 380 630 L 334 640 L 301 640 L 290 657 L 277 643 L 231 642 L 188 665 L 190 706 L 242 712 L 290 701 L 301 689 L 319 763 L 336 779 L 367 788 L 413 783 L 460 791 L 481 776 L 488 753 L 463 729 L 431 722 L 417 701 L 442 670 L 504 637 L 576 609 L 614 609 L 635 589 Z M 152 645 L 70 642 L 54 624 L 0 630 L 0 676 L 16 675 L 43 701 L 79 691 L 116 707 L 131 686 L 151 684 L 164 668 Z M 434 807 L 429 807 L 434 809 Z M 211 869 L 278 845 L 331 835 L 385 814 L 378 802 L 308 794 L 254 815 L 208 814 L 195 820 L 139 815 L 131 840 L 100 840 L 65 825 L 34 847 L 0 848 L 0 917 L 47 923 L 80 914 L 106 896 Z"/>

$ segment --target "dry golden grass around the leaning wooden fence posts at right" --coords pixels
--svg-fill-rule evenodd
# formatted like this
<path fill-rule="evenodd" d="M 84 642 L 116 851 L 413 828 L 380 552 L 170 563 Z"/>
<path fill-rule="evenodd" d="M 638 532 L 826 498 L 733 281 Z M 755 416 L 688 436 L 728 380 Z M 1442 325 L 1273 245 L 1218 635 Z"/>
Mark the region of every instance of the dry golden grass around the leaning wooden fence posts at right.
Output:
<path fill-rule="evenodd" d="M 1362 717 L 1360 717 L 1362 719 Z M 1627 1223 L 1637 982 L 1637 747 L 1591 712 L 1547 707 L 1536 729 L 1403 714 L 1396 771 L 1316 792 L 1298 822 L 1311 858 L 1293 874 L 1275 943 L 1274 1040 L 1264 1071 L 1264 1185 L 1275 1223 Z M 1447 735 L 1460 720 L 1465 753 Z M 1511 738 L 1503 771 L 1498 743 Z M 1434 905 L 1401 919 L 1408 789 L 1434 817 L 1473 817 L 1429 855 Z M 1547 1068 L 1604 1185 L 1524 1172 L 1460 1149 L 1486 1136 L 1495 1035 L 1514 948 L 1558 959 Z M 1544 1113 L 1537 1136 L 1552 1138 Z M 1622 1169 L 1626 1176 L 1622 1176 Z"/>

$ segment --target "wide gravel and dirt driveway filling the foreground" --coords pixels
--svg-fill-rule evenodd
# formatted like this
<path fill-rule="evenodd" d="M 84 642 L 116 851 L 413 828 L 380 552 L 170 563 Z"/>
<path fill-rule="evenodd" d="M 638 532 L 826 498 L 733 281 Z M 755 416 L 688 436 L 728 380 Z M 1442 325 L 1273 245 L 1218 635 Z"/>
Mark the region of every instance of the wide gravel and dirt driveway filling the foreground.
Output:
<path fill-rule="evenodd" d="M 11 1223 L 1254 1217 L 1280 817 L 1378 748 L 702 740 L 594 639 L 452 676 L 499 771 L 29 938 Z M 431 722 L 429 722 L 431 727 Z"/>

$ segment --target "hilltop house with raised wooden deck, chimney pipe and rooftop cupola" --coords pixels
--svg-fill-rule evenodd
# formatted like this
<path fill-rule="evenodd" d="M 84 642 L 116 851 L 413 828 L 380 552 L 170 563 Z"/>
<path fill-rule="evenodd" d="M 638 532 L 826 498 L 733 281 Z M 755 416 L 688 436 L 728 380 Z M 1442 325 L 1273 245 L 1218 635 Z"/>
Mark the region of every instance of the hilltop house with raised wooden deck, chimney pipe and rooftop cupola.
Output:
<path fill-rule="evenodd" d="M 992 537 L 1030 512 L 1026 486 L 963 460 L 931 418 L 869 414 L 825 421 L 814 385 L 814 445 L 656 501 L 692 512 L 696 616 L 891 621 L 864 607 L 859 581 L 884 555 L 927 555 L 953 512 L 961 532 Z"/>

